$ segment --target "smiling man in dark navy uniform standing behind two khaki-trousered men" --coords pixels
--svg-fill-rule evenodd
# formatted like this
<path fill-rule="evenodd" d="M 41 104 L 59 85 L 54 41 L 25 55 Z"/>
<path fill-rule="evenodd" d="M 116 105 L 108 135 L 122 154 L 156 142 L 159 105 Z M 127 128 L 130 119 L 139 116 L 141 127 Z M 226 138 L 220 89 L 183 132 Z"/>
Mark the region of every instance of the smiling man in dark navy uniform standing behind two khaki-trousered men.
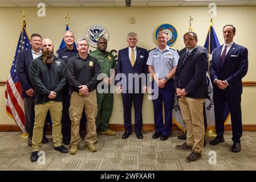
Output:
<path fill-rule="evenodd" d="M 68 30 L 64 33 L 64 42 L 66 46 L 62 49 L 58 49 L 56 56 L 68 63 L 68 60 L 75 56 L 78 53 L 78 49 L 74 47 L 74 34 Z M 62 135 L 63 143 L 70 144 L 71 139 L 71 121 L 70 116 L 68 115 L 68 109 L 70 108 L 70 85 L 66 82 L 66 86 L 63 90 L 63 110 L 62 110 Z"/>

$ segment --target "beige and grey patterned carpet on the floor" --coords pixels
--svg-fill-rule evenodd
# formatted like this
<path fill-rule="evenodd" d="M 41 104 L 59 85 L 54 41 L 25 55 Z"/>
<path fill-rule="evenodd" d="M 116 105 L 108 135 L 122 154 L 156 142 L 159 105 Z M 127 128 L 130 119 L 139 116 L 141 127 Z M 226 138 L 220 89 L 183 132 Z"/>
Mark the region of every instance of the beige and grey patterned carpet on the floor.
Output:
<path fill-rule="evenodd" d="M 99 135 L 97 152 L 90 152 L 80 143 L 78 154 L 61 154 L 54 151 L 51 135 L 50 142 L 42 144 L 46 154 L 45 164 L 30 162 L 31 148 L 27 139 L 19 132 L 0 133 L 0 170 L 256 170 L 256 132 L 243 132 L 242 151 L 233 153 L 230 148 L 231 132 L 225 133 L 225 142 L 218 146 L 207 145 L 202 159 L 194 163 L 185 162 L 189 151 L 174 149 L 184 140 L 177 139 L 180 131 L 174 131 L 168 140 L 152 139 L 153 131 L 144 132 L 139 140 L 133 133 L 128 139 L 121 139 L 123 131 L 115 137 Z M 66 146 L 69 148 L 70 146 Z M 216 152 L 217 164 L 209 164 L 210 151 Z M 212 160 L 210 160 L 212 161 Z"/>

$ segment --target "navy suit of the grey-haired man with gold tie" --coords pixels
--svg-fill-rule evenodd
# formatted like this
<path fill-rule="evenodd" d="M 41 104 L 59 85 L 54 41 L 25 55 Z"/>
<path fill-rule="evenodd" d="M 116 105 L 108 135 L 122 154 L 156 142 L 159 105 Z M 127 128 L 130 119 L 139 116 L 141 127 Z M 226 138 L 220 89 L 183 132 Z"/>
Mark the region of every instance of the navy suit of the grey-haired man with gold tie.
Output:
<path fill-rule="evenodd" d="M 144 48 L 136 47 L 137 55 L 135 59 L 135 64 L 132 67 L 131 61 L 129 60 L 129 49 L 124 48 L 118 52 L 118 61 L 117 61 L 117 74 L 123 73 L 127 77 L 127 81 L 122 84 L 122 99 L 123 99 L 123 107 L 124 107 L 124 127 L 128 133 L 132 131 L 132 122 L 131 122 L 131 108 L 132 101 L 135 109 L 135 131 L 140 131 L 143 126 L 142 119 L 142 105 L 143 105 L 143 93 L 142 88 L 145 86 L 145 82 L 140 80 L 139 85 L 134 84 L 134 79 L 128 80 L 128 74 L 135 73 L 141 74 L 145 73 L 147 76 L 148 73 L 148 51 Z M 118 77 L 118 75 L 117 75 Z M 121 80 L 117 78 L 117 81 Z M 139 93 L 135 93 L 135 90 L 139 90 Z"/>

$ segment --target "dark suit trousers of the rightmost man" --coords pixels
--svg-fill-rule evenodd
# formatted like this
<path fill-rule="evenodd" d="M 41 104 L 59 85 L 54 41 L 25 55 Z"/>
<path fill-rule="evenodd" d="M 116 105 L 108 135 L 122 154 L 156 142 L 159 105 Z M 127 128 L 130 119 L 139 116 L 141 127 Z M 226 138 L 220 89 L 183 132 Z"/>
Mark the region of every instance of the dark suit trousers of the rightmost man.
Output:
<path fill-rule="evenodd" d="M 215 122 L 217 137 L 224 136 L 224 111 L 226 104 L 229 106 L 232 123 L 233 142 L 240 142 L 242 137 L 242 112 L 241 94 L 223 92 L 213 92 Z"/>

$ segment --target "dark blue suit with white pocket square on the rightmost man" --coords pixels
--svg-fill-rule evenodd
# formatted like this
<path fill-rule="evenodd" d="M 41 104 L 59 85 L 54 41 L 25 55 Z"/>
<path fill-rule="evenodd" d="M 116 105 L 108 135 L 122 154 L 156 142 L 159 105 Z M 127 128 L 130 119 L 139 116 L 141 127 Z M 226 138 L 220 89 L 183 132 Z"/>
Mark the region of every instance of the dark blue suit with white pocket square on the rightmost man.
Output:
<path fill-rule="evenodd" d="M 224 108 L 227 104 L 231 114 L 233 131 L 233 142 L 240 142 L 242 136 L 242 113 L 241 113 L 241 94 L 242 78 L 248 70 L 248 51 L 247 48 L 235 43 L 227 52 L 225 60 L 221 60 L 222 47 L 213 50 L 212 61 L 210 61 L 210 77 L 212 81 L 226 80 L 229 84 L 222 90 L 214 84 L 213 99 L 216 121 L 217 137 L 224 135 Z"/>

